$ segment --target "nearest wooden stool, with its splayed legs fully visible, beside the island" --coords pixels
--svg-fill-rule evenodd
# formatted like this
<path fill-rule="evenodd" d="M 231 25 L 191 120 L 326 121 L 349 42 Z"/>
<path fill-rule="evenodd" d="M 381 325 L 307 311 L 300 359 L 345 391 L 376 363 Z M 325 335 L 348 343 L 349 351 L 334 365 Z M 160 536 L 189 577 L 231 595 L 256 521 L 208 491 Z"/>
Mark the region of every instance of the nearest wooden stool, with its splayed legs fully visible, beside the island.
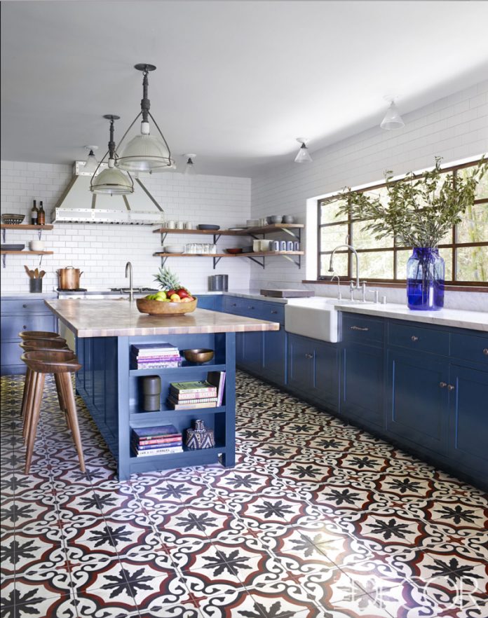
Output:
<path fill-rule="evenodd" d="M 76 403 L 74 401 L 73 385 L 70 373 L 79 371 L 79 364 L 76 355 L 71 350 L 34 350 L 24 352 L 22 360 L 32 371 L 32 385 L 27 399 L 26 420 L 27 420 L 27 451 L 25 455 L 25 474 L 29 472 L 32 462 L 32 452 L 34 451 L 34 441 L 36 439 L 37 424 L 41 414 L 41 400 L 44 388 L 46 373 L 58 375 L 62 385 L 62 394 L 65 398 L 69 427 L 72 430 L 74 445 L 78 453 L 81 472 L 85 472 L 85 460 L 83 458 L 83 447 L 81 446 L 81 436 L 76 416 Z"/>

